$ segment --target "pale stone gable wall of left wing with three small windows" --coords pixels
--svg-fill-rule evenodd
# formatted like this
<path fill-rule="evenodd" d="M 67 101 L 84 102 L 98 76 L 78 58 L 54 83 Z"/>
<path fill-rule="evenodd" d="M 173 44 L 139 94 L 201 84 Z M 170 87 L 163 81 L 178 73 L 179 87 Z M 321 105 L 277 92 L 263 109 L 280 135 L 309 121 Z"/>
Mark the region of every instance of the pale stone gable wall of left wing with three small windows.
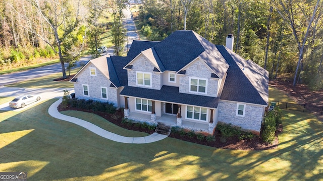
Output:
<path fill-rule="evenodd" d="M 113 103 L 118 107 L 117 88 L 110 87 L 111 81 L 96 69 L 96 76 L 90 76 L 91 64 L 87 65 L 82 72 L 78 74 L 77 81 L 74 83 L 75 97 L 78 99 L 95 100 L 100 102 Z M 82 84 L 87 84 L 89 88 L 89 96 L 83 96 Z M 107 88 L 107 100 L 101 98 L 101 86 Z"/>

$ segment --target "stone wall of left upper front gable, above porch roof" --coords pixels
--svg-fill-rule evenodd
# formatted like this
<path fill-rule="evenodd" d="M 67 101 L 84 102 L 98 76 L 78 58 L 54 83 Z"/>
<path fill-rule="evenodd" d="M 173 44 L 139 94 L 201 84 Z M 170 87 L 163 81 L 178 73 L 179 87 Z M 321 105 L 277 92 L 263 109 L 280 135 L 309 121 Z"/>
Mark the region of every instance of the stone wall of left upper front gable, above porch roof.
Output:
<path fill-rule="evenodd" d="M 142 64 L 142 61 L 144 61 L 144 65 Z M 143 88 L 152 88 L 160 90 L 161 86 L 161 73 L 160 72 L 154 72 L 154 65 L 143 55 L 139 56 L 132 64 L 132 69 L 128 70 L 128 85 L 129 86 L 135 86 L 135 87 L 143 87 Z M 147 86 L 139 86 L 137 85 L 136 80 L 136 71 L 142 71 L 142 72 L 150 72 L 151 73 L 151 85 L 152 87 Z"/>

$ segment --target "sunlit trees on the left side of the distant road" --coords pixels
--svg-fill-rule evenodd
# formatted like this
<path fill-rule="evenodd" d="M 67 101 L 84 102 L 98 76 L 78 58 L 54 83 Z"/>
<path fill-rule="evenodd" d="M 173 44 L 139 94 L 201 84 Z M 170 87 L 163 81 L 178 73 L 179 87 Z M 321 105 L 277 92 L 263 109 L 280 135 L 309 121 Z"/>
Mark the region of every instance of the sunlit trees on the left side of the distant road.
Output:
<path fill-rule="evenodd" d="M 0 65 L 58 56 L 63 78 L 83 50 L 99 56 L 101 35 L 110 25 L 116 53 L 124 42 L 121 0 L 22 0 L 0 2 Z M 111 11 L 112 23 L 100 22 Z M 109 17 L 108 17 L 109 18 Z"/>

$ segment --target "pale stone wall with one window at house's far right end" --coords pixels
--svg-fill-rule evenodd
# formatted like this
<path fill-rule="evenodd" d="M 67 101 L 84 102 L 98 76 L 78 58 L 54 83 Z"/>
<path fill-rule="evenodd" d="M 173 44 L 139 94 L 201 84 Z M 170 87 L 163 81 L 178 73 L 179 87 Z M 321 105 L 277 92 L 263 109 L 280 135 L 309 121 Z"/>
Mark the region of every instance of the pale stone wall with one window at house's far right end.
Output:
<path fill-rule="evenodd" d="M 245 105 L 245 115 L 242 117 L 236 116 L 237 103 L 220 101 L 218 106 L 218 122 L 232 124 L 232 126 L 241 127 L 243 130 L 251 131 L 252 133 L 259 135 L 265 107 L 251 104 Z"/>

